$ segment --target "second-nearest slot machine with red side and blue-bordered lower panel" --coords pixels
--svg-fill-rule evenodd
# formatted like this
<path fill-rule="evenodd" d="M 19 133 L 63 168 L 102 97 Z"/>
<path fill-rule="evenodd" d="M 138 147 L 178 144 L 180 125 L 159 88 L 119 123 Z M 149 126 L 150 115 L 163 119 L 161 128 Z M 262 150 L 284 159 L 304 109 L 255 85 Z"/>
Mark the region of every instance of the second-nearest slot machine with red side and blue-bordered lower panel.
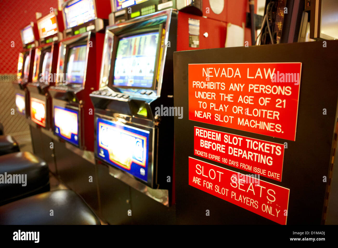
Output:
<path fill-rule="evenodd" d="M 62 5 L 64 38 L 59 42 L 52 96 L 54 134 L 83 150 L 94 150 L 94 108 L 109 0 L 70 0 Z"/>

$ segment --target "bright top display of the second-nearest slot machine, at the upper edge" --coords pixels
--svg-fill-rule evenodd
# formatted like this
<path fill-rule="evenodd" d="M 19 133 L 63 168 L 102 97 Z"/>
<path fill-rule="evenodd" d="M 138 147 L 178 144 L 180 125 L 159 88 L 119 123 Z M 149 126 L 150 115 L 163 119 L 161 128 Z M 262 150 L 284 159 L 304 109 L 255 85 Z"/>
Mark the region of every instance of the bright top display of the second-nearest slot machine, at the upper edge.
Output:
<path fill-rule="evenodd" d="M 79 0 L 64 8 L 67 28 L 95 19 L 94 0 Z"/>

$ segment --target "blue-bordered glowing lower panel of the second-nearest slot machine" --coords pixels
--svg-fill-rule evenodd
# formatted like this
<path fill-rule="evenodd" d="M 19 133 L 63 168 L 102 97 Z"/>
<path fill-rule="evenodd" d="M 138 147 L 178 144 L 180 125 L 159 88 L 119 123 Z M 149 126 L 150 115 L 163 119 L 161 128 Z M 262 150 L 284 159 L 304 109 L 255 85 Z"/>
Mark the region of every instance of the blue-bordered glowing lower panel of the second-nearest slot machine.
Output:
<path fill-rule="evenodd" d="M 54 106 L 54 133 L 64 140 L 79 146 L 78 140 L 78 112 L 70 109 Z"/>

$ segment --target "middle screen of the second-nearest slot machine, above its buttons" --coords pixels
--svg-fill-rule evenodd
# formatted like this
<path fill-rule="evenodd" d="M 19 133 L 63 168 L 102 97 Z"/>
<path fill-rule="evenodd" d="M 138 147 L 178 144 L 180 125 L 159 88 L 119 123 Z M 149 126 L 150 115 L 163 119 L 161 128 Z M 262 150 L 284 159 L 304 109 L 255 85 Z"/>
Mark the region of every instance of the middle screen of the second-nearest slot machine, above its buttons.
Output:
<path fill-rule="evenodd" d="M 68 83 L 82 84 L 86 64 L 87 45 L 77 46 L 69 49 L 67 63 Z"/>

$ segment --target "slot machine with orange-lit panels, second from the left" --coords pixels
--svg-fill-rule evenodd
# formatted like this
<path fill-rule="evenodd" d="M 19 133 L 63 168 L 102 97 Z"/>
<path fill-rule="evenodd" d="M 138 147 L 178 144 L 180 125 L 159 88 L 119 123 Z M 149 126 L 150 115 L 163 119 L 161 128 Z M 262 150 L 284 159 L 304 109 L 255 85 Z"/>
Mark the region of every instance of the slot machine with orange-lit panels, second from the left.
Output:
<path fill-rule="evenodd" d="M 56 9 L 37 20 L 39 46 L 35 48 L 32 80 L 27 84 L 30 95 L 30 120 L 50 129 L 51 97 L 49 86 L 55 85 L 58 41 L 62 39 L 62 16 Z"/>

